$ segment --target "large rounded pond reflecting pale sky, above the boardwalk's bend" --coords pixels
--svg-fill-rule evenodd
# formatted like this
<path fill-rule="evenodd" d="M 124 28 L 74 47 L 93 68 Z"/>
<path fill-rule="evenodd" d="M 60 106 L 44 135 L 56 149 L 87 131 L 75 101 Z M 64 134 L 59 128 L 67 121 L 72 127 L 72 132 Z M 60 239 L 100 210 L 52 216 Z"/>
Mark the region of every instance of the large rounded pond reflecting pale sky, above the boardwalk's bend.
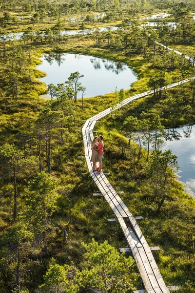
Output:
<path fill-rule="evenodd" d="M 90 55 L 73 53 L 44 54 L 37 67 L 47 73 L 40 80 L 45 84 L 60 84 L 67 81 L 72 72 L 84 77 L 80 80 L 86 87 L 84 97 L 104 95 L 117 89 L 129 89 L 137 81 L 137 75 L 127 64 Z M 78 94 L 78 98 L 81 94 Z"/>

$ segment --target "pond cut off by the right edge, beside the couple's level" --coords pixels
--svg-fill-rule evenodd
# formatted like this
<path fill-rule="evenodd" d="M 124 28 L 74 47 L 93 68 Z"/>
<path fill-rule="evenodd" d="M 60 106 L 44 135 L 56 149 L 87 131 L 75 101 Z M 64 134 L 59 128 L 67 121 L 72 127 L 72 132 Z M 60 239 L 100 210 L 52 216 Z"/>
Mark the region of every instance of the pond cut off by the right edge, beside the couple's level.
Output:
<path fill-rule="evenodd" d="M 195 192 L 195 125 L 167 129 L 165 149 L 171 149 L 178 157 L 179 181 Z"/>

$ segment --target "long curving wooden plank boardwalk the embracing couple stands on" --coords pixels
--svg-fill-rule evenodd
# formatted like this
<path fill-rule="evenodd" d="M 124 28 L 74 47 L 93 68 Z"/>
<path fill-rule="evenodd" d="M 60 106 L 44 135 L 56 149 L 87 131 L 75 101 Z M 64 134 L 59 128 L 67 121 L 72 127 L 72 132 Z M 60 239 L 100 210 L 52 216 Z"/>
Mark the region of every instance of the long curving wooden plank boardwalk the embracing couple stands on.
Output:
<path fill-rule="evenodd" d="M 190 80 L 191 79 L 186 79 L 175 84 L 170 84 L 166 88 L 171 88 L 179 84 L 184 84 L 189 82 Z M 127 105 L 132 101 L 137 100 L 141 97 L 145 97 L 149 94 L 153 94 L 153 90 L 137 94 L 133 97 L 125 99 L 122 103 L 122 106 Z M 121 107 L 121 104 L 118 104 L 116 106 L 116 109 L 119 107 Z M 97 115 L 91 117 L 85 122 L 82 128 L 85 159 L 87 161 L 89 173 L 91 174 L 100 192 L 107 200 L 108 204 L 110 205 L 111 209 L 117 217 L 117 220 L 121 226 L 129 248 L 131 249 L 137 263 L 137 267 L 143 280 L 145 290 L 148 293 L 169 293 L 170 291 L 163 281 L 163 278 L 156 265 L 156 261 L 153 257 L 152 251 L 139 226 L 137 225 L 135 217 L 123 203 L 115 189 L 111 186 L 106 176 L 102 172 L 100 174 L 97 174 L 93 171 L 92 163 L 90 161 L 92 153 L 91 141 L 94 138 L 93 128 L 97 121 L 107 116 L 111 112 L 111 109 L 112 108 L 110 107 L 102 111 L 101 113 L 98 113 Z"/>

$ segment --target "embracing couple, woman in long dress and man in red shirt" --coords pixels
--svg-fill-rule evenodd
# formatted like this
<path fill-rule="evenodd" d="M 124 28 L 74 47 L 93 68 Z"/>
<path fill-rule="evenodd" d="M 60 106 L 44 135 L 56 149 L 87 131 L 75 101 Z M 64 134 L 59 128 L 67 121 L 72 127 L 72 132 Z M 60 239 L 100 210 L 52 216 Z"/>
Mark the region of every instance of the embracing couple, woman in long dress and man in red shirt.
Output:
<path fill-rule="evenodd" d="M 91 144 L 91 150 L 92 150 L 91 162 L 93 162 L 93 170 L 97 171 L 97 173 L 101 173 L 103 146 L 104 146 L 103 136 L 102 135 L 99 135 L 99 137 L 95 136 Z M 97 162 L 99 162 L 99 167 L 97 167 Z"/>

